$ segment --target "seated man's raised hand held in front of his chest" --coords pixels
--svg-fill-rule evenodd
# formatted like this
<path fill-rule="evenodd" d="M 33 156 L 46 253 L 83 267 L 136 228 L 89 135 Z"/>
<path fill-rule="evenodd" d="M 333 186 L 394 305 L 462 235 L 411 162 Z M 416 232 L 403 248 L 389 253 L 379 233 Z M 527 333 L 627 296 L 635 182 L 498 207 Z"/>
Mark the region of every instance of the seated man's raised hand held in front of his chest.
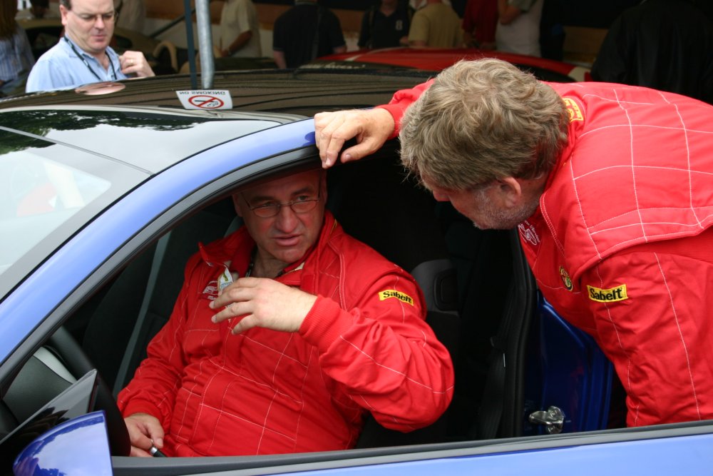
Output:
<path fill-rule="evenodd" d="M 222 309 L 213 316 L 214 323 L 241 316 L 232 328 L 233 334 L 256 326 L 297 332 L 316 300 L 315 295 L 272 279 L 240 278 L 222 290 L 210 308 Z"/>

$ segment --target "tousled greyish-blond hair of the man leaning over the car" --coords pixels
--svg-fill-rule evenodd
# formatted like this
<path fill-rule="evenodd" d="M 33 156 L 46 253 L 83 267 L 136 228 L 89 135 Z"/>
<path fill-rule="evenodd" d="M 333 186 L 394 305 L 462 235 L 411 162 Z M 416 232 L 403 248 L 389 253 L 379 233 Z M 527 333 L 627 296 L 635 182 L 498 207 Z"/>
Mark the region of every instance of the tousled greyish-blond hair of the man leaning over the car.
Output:
<path fill-rule="evenodd" d="M 448 190 L 548 173 L 567 142 L 560 96 L 498 59 L 441 71 L 401 119 L 401 161 Z"/>

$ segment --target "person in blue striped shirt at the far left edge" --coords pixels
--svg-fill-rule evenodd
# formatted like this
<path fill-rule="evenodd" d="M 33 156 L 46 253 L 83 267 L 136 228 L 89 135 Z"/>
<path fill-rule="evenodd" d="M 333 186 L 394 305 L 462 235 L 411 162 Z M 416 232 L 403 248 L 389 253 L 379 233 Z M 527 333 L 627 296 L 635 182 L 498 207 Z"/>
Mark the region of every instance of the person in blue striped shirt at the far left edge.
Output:
<path fill-rule="evenodd" d="M 35 62 L 30 41 L 15 20 L 17 2 L 0 0 L 0 93 L 11 94 L 21 86 Z"/>

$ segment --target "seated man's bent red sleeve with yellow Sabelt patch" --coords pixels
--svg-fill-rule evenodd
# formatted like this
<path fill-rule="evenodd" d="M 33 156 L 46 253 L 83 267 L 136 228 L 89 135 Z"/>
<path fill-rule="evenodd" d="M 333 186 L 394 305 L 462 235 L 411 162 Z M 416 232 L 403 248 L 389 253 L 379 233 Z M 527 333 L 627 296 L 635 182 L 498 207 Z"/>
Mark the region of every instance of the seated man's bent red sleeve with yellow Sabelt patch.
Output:
<path fill-rule="evenodd" d="M 453 395 L 453 364 L 424 320 L 422 299 L 409 275 L 387 273 L 349 310 L 318 296 L 299 330 L 342 393 L 404 432 L 437 420 Z"/>

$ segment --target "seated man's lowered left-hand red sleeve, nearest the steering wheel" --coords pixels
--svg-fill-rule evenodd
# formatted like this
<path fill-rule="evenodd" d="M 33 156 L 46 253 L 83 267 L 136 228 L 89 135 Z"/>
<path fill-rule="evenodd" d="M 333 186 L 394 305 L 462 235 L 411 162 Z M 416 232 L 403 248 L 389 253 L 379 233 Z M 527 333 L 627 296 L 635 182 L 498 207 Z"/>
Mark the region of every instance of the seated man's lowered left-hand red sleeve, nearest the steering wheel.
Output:
<path fill-rule="evenodd" d="M 189 261 L 186 270 L 193 269 L 198 257 Z M 137 412 L 157 417 L 164 430 L 168 429 L 175 395 L 180 387 L 185 361 L 184 334 L 188 322 L 190 296 L 195 295 L 195 284 L 190 282 L 200 273 L 186 273 L 183 288 L 168 323 L 154 336 L 143 360 L 130 383 L 120 391 L 117 405 L 124 417 Z"/>

